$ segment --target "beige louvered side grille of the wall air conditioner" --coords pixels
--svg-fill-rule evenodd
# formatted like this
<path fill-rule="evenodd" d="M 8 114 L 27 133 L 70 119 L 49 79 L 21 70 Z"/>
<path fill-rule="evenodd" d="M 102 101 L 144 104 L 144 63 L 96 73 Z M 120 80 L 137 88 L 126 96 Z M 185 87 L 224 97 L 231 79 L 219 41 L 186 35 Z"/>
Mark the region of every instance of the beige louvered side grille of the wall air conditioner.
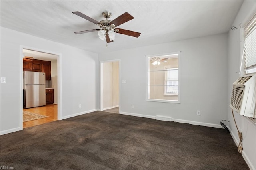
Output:
<path fill-rule="evenodd" d="M 237 111 L 240 111 L 243 93 L 244 86 L 233 86 L 230 105 L 232 105 Z"/>

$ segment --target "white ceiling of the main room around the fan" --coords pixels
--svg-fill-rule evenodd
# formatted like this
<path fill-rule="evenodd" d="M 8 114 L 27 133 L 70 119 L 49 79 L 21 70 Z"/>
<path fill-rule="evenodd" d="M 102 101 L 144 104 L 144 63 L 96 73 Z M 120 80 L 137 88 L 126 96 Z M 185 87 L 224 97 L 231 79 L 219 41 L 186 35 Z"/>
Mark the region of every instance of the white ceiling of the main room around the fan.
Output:
<path fill-rule="evenodd" d="M 0 1 L 1 26 L 87 51 L 103 53 L 228 32 L 242 1 Z M 94 20 L 102 12 L 114 20 L 124 12 L 134 19 L 118 28 L 141 32 L 139 38 L 116 34 L 108 43 L 97 32 L 74 32 L 99 28 L 75 14 Z"/>

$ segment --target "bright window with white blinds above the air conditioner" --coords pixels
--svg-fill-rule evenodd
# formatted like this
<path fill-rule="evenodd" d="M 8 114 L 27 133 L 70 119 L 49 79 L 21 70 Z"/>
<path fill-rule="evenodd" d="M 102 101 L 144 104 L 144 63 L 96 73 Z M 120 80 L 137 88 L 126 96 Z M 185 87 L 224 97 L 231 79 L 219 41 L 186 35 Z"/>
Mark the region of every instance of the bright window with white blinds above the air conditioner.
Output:
<path fill-rule="evenodd" d="M 256 73 L 256 14 L 246 25 L 244 34 L 244 73 Z"/>

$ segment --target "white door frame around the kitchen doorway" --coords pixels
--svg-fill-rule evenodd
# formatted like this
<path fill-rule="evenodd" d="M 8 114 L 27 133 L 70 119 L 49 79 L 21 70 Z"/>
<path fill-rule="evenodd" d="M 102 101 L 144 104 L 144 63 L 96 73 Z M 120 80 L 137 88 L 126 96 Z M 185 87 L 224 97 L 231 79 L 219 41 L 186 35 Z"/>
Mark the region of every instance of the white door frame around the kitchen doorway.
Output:
<path fill-rule="evenodd" d="M 32 51 L 40 51 L 42 53 L 50 53 L 57 56 L 57 87 L 58 87 L 58 106 L 57 106 L 57 119 L 62 119 L 62 77 L 61 77 L 61 60 L 62 54 L 54 51 L 48 51 L 45 49 L 38 49 L 34 47 L 28 47 L 25 45 L 20 45 L 20 130 L 23 129 L 23 49 L 28 49 Z"/>

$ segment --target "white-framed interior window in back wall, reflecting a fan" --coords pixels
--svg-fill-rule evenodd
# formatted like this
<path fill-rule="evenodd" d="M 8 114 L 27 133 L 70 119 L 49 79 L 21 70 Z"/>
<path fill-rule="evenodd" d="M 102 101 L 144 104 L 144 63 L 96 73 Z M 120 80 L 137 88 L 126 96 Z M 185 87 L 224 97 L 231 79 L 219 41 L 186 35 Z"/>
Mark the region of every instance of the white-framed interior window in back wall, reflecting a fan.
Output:
<path fill-rule="evenodd" d="M 147 101 L 180 103 L 180 52 L 147 56 Z"/>

